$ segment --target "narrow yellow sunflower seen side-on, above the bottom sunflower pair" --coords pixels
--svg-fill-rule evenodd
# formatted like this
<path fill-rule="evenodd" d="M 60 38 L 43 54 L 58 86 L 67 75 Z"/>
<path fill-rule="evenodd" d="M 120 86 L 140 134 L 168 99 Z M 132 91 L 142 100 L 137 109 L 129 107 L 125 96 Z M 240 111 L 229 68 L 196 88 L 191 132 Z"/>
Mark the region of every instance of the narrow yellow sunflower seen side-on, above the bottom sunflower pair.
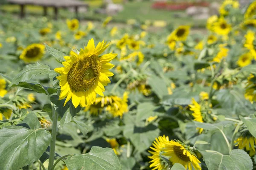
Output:
<path fill-rule="evenodd" d="M 189 105 L 190 107 L 190 111 L 193 111 L 194 113 L 192 113 L 192 116 L 194 117 L 194 120 L 196 122 L 204 122 L 203 121 L 203 116 L 202 116 L 202 113 L 201 113 L 201 105 L 198 104 L 198 102 L 195 101 L 194 98 L 192 98 L 192 105 Z M 199 132 L 199 134 L 201 134 L 203 132 L 203 128 L 199 128 L 197 127 L 196 128 Z"/>

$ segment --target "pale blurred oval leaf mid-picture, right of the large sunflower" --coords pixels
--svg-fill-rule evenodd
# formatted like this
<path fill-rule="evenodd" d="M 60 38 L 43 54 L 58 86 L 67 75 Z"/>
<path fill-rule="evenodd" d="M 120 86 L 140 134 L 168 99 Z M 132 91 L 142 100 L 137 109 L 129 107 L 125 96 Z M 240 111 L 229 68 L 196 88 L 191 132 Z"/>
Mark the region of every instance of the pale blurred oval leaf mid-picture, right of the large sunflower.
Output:
<path fill-rule="evenodd" d="M 152 88 L 152 90 L 158 96 L 159 99 L 162 99 L 164 95 L 168 94 L 166 83 L 160 77 L 156 77 L 152 75 L 148 79 L 148 85 L 150 85 L 150 87 Z"/>

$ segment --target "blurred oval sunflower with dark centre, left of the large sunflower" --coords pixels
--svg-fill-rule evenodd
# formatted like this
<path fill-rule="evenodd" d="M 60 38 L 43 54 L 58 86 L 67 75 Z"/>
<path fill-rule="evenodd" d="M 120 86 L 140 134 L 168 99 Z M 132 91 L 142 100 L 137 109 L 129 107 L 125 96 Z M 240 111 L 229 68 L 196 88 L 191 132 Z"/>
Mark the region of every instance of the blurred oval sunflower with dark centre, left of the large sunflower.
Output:
<path fill-rule="evenodd" d="M 36 62 L 44 56 L 45 46 L 42 44 L 31 44 L 20 54 L 20 59 L 24 62 Z"/>

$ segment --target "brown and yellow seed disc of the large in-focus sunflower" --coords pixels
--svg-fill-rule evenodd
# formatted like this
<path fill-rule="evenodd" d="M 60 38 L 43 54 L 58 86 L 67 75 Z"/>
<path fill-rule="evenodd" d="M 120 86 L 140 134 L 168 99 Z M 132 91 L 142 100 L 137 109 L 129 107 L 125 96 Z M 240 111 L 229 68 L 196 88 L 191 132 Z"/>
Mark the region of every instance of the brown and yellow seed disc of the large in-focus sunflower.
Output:
<path fill-rule="evenodd" d="M 101 61 L 98 56 L 84 57 L 76 61 L 67 74 L 67 82 L 75 91 L 86 91 L 99 79 Z"/>

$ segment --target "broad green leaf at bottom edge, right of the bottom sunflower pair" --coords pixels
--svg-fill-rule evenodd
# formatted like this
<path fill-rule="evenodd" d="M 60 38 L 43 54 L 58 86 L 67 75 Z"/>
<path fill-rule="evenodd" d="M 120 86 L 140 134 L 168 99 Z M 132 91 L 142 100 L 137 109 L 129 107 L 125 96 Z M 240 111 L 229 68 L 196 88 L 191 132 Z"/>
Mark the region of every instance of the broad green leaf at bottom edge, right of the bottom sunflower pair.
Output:
<path fill-rule="evenodd" d="M 201 151 L 209 170 L 252 170 L 253 162 L 250 156 L 240 149 L 232 150 L 230 155 L 209 150 Z"/>

